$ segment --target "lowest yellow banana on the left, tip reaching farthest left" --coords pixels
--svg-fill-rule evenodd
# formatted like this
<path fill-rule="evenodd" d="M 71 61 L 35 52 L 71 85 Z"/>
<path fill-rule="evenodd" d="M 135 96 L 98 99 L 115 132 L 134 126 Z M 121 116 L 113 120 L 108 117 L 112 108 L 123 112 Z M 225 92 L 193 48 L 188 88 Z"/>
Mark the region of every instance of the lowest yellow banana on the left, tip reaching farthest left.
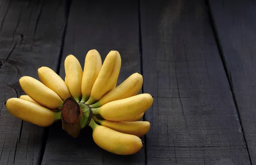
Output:
<path fill-rule="evenodd" d="M 7 110 L 18 119 L 48 127 L 61 119 L 61 112 L 53 112 L 41 105 L 20 98 L 9 98 L 6 101 Z"/>

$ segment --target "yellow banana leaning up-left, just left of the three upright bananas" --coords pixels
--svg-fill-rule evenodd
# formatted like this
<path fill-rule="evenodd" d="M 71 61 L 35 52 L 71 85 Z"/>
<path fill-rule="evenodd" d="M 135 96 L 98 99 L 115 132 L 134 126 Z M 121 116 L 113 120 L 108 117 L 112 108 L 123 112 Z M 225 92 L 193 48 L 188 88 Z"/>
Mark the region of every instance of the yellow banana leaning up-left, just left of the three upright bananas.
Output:
<path fill-rule="evenodd" d="M 71 96 L 65 81 L 49 67 L 38 68 L 38 77 L 45 86 L 57 93 L 62 100 Z"/>

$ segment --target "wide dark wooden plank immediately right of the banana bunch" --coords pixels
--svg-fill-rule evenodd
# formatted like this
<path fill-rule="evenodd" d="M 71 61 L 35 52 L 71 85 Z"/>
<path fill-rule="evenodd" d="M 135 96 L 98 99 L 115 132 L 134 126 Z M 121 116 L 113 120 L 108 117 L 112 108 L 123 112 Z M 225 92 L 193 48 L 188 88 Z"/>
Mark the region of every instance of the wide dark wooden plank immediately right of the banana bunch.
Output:
<path fill-rule="evenodd" d="M 147 165 L 250 165 L 203 0 L 142 0 Z"/>

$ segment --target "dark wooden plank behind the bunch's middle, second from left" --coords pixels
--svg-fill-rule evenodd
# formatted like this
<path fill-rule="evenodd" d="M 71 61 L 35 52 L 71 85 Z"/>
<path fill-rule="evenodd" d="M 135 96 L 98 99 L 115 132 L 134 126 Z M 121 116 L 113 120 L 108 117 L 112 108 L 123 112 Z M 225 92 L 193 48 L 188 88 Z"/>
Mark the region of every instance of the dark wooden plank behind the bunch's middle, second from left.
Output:
<path fill-rule="evenodd" d="M 73 0 L 68 18 L 60 75 L 65 77 L 64 60 L 73 54 L 84 68 L 87 52 L 99 51 L 102 62 L 111 49 L 122 58 L 118 84 L 140 72 L 139 20 L 137 1 Z M 71 138 L 59 123 L 50 128 L 43 165 L 144 165 L 144 148 L 131 156 L 119 156 L 99 148 L 90 127 Z"/>

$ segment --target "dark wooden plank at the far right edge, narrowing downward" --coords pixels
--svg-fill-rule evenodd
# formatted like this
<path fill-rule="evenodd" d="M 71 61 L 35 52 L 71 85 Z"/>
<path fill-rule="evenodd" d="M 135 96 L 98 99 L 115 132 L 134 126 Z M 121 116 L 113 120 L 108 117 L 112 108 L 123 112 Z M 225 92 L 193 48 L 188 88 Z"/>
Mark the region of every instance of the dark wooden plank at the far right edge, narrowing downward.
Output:
<path fill-rule="evenodd" d="M 209 0 L 251 163 L 256 164 L 256 1 Z"/>

